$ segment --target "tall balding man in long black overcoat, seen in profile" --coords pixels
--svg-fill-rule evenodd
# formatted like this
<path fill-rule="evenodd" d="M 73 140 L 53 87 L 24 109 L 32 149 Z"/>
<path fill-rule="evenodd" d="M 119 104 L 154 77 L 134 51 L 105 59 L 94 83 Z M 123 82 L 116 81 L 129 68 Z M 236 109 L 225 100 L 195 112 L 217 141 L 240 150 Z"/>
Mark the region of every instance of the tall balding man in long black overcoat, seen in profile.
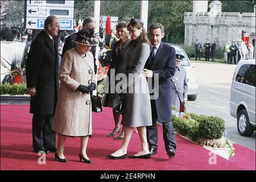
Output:
<path fill-rule="evenodd" d="M 54 36 L 60 31 L 59 18 L 48 16 L 44 30 L 32 42 L 26 63 L 27 87 L 31 96 L 30 113 L 34 152 L 56 151 L 53 117 L 59 89 L 59 63 Z"/>

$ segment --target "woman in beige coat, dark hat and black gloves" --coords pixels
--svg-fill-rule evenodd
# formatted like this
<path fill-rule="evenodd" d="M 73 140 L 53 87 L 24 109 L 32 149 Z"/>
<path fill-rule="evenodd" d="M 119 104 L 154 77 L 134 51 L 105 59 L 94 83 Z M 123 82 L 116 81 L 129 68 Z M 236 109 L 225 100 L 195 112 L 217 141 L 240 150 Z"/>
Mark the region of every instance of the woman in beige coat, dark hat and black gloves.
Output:
<path fill-rule="evenodd" d="M 55 160 L 68 162 L 63 154 L 68 137 L 80 137 L 80 161 L 92 163 L 86 155 L 88 136 L 92 134 L 90 92 L 96 89 L 93 55 L 90 48 L 98 43 L 92 29 L 76 33 L 77 47 L 65 52 L 60 67 L 60 92 L 52 130 L 59 134 Z"/>

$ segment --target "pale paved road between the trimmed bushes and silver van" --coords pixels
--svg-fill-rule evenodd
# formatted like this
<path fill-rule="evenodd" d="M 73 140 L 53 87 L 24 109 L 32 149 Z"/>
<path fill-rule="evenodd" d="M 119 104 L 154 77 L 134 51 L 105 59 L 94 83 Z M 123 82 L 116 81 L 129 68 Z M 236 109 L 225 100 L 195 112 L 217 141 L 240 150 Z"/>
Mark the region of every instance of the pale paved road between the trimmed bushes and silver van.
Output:
<path fill-rule="evenodd" d="M 187 111 L 221 117 L 226 122 L 227 138 L 255 151 L 255 131 L 252 137 L 242 137 L 237 131 L 236 118 L 229 114 L 230 88 L 236 65 L 193 63 L 199 79 L 199 93 L 196 101 L 188 101 Z"/>

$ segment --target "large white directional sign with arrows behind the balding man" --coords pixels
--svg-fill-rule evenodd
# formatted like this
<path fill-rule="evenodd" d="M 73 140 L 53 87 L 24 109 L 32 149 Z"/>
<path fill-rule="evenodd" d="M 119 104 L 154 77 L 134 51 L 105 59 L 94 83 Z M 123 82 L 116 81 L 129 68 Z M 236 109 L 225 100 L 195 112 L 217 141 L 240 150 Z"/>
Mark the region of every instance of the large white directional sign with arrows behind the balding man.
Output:
<path fill-rule="evenodd" d="M 43 29 L 47 16 L 60 19 L 61 30 L 73 30 L 74 1 L 26 1 L 26 28 Z"/>

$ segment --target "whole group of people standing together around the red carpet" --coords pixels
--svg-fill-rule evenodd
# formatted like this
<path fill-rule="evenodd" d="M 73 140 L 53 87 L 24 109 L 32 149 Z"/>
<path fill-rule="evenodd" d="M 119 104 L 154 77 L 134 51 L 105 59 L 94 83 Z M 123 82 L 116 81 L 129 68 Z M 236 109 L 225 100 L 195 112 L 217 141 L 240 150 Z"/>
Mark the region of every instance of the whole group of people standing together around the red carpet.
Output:
<path fill-rule="evenodd" d="M 150 159 L 158 151 L 157 122 L 163 125 L 166 154 L 174 158 L 176 138 L 172 104 L 179 109 L 180 104 L 187 101 L 186 72 L 180 67 L 183 56 L 176 55 L 173 47 L 162 42 L 164 27 L 160 23 L 150 26 L 149 38 L 141 19 L 121 21 L 115 29 L 118 40 L 110 55 L 109 85 L 105 85 L 102 105 L 113 107 L 115 127 L 108 137 L 121 133 L 118 139 L 123 142 L 106 158 L 126 158 L 136 128 L 141 150 L 128 158 Z M 67 137 L 80 137 L 80 161 L 92 163 L 86 150 L 93 133 L 90 96 L 97 85 L 94 47 L 100 38 L 95 30 L 96 20 L 86 17 L 82 29 L 65 38 L 59 64 L 54 37 L 60 32 L 60 22 L 56 16 L 48 16 L 28 53 L 26 77 L 31 96 L 30 113 L 33 114 L 33 148 L 35 152 L 55 152 L 58 162 L 68 162 L 64 156 Z M 120 74 L 126 79 L 118 82 Z M 148 80 L 153 84 L 148 84 Z M 114 103 L 121 97 L 125 107 L 120 114 Z M 59 135 L 57 147 L 56 133 Z"/>

